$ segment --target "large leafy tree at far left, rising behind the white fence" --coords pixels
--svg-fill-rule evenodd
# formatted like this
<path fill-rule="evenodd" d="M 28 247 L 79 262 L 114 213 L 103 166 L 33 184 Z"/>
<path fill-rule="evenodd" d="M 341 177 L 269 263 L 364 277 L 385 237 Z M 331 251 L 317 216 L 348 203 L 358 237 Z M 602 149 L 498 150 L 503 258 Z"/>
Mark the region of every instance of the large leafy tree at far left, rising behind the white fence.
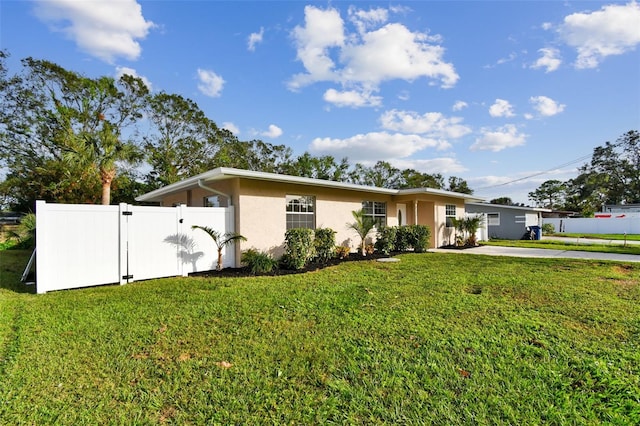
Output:
<path fill-rule="evenodd" d="M 108 204 L 119 165 L 140 158 L 123 131 L 142 117 L 147 87 L 129 75 L 88 78 L 33 58 L 22 65 L 22 75 L 5 74 L 0 85 L 0 164 L 12 187 L 27 188 L 16 202 L 61 201 L 61 193 L 86 202 L 97 181 L 92 201 Z"/>

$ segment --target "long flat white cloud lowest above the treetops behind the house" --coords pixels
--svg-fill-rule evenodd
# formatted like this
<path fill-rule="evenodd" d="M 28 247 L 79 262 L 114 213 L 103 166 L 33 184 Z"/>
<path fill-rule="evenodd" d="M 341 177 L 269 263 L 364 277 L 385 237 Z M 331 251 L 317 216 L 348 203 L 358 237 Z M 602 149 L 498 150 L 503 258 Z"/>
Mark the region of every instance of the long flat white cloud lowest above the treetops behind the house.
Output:
<path fill-rule="evenodd" d="M 404 158 L 425 148 L 447 149 L 450 146 L 446 141 L 415 134 L 372 132 L 346 139 L 316 138 L 311 142 L 310 150 L 336 158 L 349 157 L 357 162 Z"/>

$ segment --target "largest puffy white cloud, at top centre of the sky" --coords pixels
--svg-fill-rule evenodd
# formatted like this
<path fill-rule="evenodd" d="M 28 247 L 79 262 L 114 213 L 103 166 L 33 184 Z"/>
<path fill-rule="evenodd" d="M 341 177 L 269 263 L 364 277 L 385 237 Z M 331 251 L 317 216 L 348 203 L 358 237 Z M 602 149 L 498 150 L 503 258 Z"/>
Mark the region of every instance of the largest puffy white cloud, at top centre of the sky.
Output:
<path fill-rule="evenodd" d="M 425 77 L 443 88 L 453 87 L 458 81 L 453 65 L 442 59 L 440 37 L 412 32 L 399 23 L 385 24 L 385 9 L 361 11 L 351 7 L 349 17 L 356 31 L 348 32 L 336 9 L 305 7 L 304 26 L 296 26 L 292 32 L 297 59 L 305 72 L 292 76 L 289 89 L 332 82 L 340 84 L 344 93 L 366 95 L 378 91 L 380 83 L 395 79 Z"/>

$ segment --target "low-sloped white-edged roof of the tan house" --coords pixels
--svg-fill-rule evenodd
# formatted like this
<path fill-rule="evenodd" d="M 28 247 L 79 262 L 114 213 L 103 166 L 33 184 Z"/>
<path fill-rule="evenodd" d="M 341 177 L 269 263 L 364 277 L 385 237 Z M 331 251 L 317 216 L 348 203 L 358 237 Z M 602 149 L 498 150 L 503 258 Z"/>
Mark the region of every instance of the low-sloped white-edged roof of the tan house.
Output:
<path fill-rule="evenodd" d="M 415 189 L 389 189 L 380 188 L 376 186 L 356 185 L 353 183 L 336 182 L 331 180 L 313 179 L 307 177 L 290 176 L 277 173 L 256 172 L 252 170 L 242 170 L 230 167 L 219 167 L 217 169 L 209 170 L 208 172 L 201 173 L 196 176 L 184 179 L 180 182 L 172 183 L 171 185 L 164 186 L 146 194 L 136 197 L 136 201 L 141 202 L 153 202 L 160 201 L 164 196 L 174 194 L 182 190 L 191 189 L 198 186 L 198 182 L 207 183 L 215 182 L 218 180 L 232 179 L 232 178 L 244 178 L 244 179 L 256 179 L 270 182 L 280 183 L 292 183 L 298 185 L 308 186 L 321 186 L 323 188 L 334 188 L 349 191 L 361 191 L 374 194 L 388 194 L 388 195 L 412 195 L 412 194 L 432 194 L 443 195 L 453 198 L 461 198 L 464 200 L 478 201 L 481 198 L 474 197 L 469 194 L 462 194 L 459 192 L 444 191 L 434 188 L 415 188 Z"/>

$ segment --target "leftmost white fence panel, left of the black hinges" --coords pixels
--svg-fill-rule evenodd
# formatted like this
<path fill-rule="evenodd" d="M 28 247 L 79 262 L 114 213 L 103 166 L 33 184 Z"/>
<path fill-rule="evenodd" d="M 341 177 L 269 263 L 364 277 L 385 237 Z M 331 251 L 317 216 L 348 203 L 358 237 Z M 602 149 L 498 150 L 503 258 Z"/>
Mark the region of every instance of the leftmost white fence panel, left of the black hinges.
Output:
<path fill-rule="evenodd" d="M 120 282 L 119 210 L 36 202 L 38 293 Z"/>

